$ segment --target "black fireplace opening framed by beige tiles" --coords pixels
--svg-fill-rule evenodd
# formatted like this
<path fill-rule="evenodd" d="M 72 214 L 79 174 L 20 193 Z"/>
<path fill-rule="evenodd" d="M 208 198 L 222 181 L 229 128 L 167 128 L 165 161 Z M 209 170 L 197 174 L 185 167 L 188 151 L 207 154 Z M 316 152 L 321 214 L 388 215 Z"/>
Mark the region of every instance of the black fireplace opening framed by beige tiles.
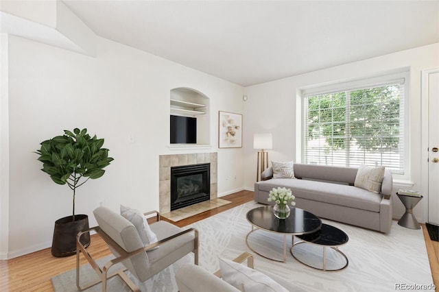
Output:
<path fill-rule="evenodd" d="M 171 167 L 171 211 L 211 198 L 210 163 Z"/>

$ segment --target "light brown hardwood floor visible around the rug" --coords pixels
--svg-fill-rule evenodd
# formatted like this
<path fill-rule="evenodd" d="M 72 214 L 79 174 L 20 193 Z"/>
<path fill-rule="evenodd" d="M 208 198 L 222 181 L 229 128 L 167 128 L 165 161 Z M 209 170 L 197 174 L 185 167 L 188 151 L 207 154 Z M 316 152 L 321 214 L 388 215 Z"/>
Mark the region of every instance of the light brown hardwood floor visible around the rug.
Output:
<path fill-rule="evenodd" d="M 224 196 L 222 199 L 227 199 L 232 203 L 183 219 L 178 221 L 176 225 L 180 227 L 187 226 L 219 212 L 250 202 L 253 199 L 253 192 L 241 191 Z M 438 291 L 439 243 L 430 240 L 425 225 L 423 225 L 423 232 L 430 260 L 431 273 L 433 274 L 436 291 Z M 88 247 L 88 252 L 94 258 L 102 258 L 110 254 L 106 243 L 97 235 L 91 236 L 91 245 Z M 82 261 L 82 263 L 85 262 Z M 11 260 L 0 260 L 0 291 L 54 291 L 50 280 L 51 277 L 75 267 L 75 256 L 55 258 L 51 256 L 50 249 L 40 250 L 25 256 L 12 258 Z"/>

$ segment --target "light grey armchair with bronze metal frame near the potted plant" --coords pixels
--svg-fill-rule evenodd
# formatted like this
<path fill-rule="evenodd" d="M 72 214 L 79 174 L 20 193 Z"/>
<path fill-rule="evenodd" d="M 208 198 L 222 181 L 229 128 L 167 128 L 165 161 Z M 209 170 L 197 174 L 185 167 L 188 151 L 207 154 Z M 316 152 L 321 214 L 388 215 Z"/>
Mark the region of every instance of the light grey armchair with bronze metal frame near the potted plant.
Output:
<path fill-rule="evenodd" d="M 105 207 L 99 207 L 93 211 L 98 226 L 80 232 L 76 241 L 76 285 L 80 291 L 88 289 L 99 282 L 102 282 L 102 291 L 106 291 L 106 282 L 113 276 L 120 276 L 132 291 L 139 291 L 139 288 L 124 273 L 126 269 L 139 281 L 144 282 L 190 252 L 195 255 L 194 262 L 195 265 L 198 265 L 198 230 L 195 228 L 182 230 L 171 223 L 161 221 L 160 214 L 157 211 L 147 212 L 145 215 L 154 213 L 156 213 L 157 221 L 152 223 L 150 228 L 157 235 L 158 241 L 143 246 L 139 232 L 130 221 Z M 92 230 L 106 241 L 108 247 L 116 256 L 102 268 L 97 265 L 80 242 L 82 234 Z M 85 286 L 80 283 L 81 253 L 99 276 L 99 280 L 90 282 Z M 126 268 L 108 273 L 108 269 L 117 263 L 122 263 Z"/>

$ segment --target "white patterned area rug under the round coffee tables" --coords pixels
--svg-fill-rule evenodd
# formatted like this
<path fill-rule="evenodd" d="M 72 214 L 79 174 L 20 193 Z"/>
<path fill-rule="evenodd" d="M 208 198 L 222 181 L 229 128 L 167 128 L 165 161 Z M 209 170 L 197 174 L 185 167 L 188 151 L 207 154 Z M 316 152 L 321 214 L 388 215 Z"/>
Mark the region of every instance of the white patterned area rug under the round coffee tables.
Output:
<path fill-rule="evenodd" d="M 250 202 L 188 226 L 200 230 L 201 267 L 213 272 L 219 269 L 218 256 L 231 259 L 241 252 L 252 254 L 245 242 L 246 234 L 251 230 L 246 212 L 257 206 L 261 205 Z M 422 230 L 403 228 L 394 221 L 391 232 L 381 234 L 333 221 L 322 221 L 348 234 L 348 243 L 340 247 L 349 259 L 346 269 L 336 272 L 311 269 L 298 263 L 289 250 L 286 263 L 277 263 L 254 255 L 255 268 L 283 276 L 298 289 L 305 291 L 397 291 L 401 290 L 397 285 L 402 284 L 416 284 L 418 286 L 414 290 L 429 291 L 420 286 L 431 287 L 433 284 Z M 249 240 L 254 249 L 282 258 L 283 236 L 257 231 Z M 291 245 L 290 239 L 288 245 Z M 300 258 L 321 265 L 321 248 L 312 248 L 312 245 L 307 244 L 294 247 L 295 250 L 296 248 Z M 335 258 L 334 254 L 335 252 L 328 251 L 329 265 L 343 265 L 342 259 Z M 178 291 L 174 280 L 175 271 L 184 263 L 193 263 L 192 258 L 191 255 L 182 258 L 174 267 L 169 267 L 153 279 L 141 283 L 142 291 Z M 128 291 L 123 288 L 123 284 L 117 283 L 118 279 L 112 281 L 114 283 L 109 285 L 109 291 Z M 52 282 L 55 291 L 77 291 L 75 270 L 55 276 Z M 100 290 L 95 287 L 89 291 Z M 209 291 L 207 287 L 206 291 Z"/>

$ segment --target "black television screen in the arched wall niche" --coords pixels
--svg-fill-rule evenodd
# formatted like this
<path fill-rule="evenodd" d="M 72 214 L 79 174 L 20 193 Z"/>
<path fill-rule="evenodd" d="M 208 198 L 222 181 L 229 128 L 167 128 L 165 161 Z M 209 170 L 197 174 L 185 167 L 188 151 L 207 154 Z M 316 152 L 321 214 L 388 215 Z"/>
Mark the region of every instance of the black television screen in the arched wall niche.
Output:
<path fill-rule="evenodd" d="M 171 144 L 197 143 L 197 119 L 171 115 Z"/>

